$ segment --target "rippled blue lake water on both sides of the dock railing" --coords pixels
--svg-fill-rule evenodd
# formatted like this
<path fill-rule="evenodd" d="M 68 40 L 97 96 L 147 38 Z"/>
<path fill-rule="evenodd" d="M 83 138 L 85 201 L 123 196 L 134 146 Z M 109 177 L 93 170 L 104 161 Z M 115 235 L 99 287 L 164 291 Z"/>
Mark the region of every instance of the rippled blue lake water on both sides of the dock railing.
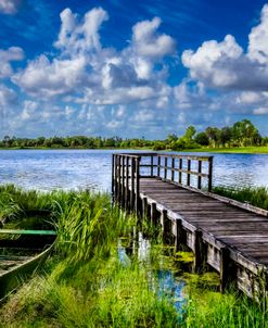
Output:
<path fill-rule="evenodd" d="M 113 152 L 115 151 L 1 150 L 0 184 L 46 191 L 59 188 L 110 191 Z M 214 186 L 268 187 L 268 155 L 214 155 Z"/>

